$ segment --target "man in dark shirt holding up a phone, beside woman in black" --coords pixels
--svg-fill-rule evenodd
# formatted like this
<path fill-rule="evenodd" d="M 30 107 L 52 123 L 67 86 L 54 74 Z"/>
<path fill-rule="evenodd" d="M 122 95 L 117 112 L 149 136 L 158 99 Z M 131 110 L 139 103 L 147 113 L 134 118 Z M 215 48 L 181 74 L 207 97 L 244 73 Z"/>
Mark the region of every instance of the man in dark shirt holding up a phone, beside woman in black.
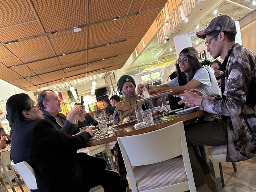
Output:
<path fill-rule="evenodd" d="M 59 100 L 57 94 L 50 89 L 43 90 L 39 93 L 38 103 L 43 109 L 44 118 L 52 122 L 56 129 L 69 135 L 79 133 L 80 130 L 78 126 L 73 124 L 73 122 L 75 116 L 77 116 L 78 121 L 83 122 L 83 105 L 74 106 L 66 117 L 64 114 L 60 113 L 61 100 Z"/>

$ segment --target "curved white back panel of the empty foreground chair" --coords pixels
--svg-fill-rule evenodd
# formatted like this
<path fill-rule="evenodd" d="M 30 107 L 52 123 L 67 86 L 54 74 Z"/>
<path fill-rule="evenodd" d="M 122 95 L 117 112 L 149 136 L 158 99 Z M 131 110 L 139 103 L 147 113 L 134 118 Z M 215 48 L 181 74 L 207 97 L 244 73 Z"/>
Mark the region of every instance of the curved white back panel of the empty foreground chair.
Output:
<path fill-rule="evenodd" d="M 184 133 L 183 122 L 178 122 L 156 131 L 119 137 L 117 140 L 120 148 L 123 148 L 122 156 L 128 156 L 131 166 L 141 166 L 181 155 L 182 144 L 186 145 L 186 138 L 184 136 L 181 140 L 181 133 Z"/>

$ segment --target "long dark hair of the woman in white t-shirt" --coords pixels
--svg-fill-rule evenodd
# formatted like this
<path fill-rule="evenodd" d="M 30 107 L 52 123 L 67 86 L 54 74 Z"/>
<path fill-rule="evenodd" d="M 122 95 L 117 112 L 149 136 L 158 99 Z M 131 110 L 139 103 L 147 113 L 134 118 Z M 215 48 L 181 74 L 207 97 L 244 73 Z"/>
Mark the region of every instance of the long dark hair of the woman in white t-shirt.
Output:
<path fill-rule="evenodd" d="M 187 53 L 188 49 L 184 49 L 182 50 L 181 53 Z M 195 73 L 197 72 L 197 70 L 199 68 L 202 67 L 202 65 L 200 64 L 200 62 L 198 61 L 197 58 L 195 57 L 191 57 L 191 56 L 187 56 L 188 57 L 188 61 L 189 61 L 189 81 L 191 79 L 193 79 L 193 77 L 195 76 Z M 178 63 L 176 63 L 176 70 L 177 70 L 177 75 L 178 75 L 178 81 L 179 81 L 179 85 L 186 85 L 187 84 L 187 77 L 185 75 L 184 72 L 181 72 L 180 70 L 180 66 Z"/>

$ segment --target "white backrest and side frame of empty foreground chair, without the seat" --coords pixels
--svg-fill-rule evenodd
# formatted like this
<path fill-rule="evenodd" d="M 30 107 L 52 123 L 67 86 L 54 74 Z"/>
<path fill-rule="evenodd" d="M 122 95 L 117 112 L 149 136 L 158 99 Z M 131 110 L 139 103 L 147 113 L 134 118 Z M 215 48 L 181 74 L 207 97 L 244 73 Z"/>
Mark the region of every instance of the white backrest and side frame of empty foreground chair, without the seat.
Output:
<path fill-rule="evenodd" d="M 153 164 L 182 155 L 189 189 L 196 191 L 182 121 L 149 133 L 118 137 L 117 141 L 132 189 L 137 189 L 132 166 Z"/>

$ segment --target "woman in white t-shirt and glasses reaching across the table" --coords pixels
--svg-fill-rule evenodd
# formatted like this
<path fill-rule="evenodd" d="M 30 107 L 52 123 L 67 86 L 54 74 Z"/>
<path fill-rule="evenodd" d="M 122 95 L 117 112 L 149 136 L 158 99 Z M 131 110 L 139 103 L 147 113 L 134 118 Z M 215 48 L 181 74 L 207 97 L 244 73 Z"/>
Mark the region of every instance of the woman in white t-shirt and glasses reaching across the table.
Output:
<path fill-rule="evenodd" d="M 198 52 L 193 47 L 184 48 L 179 55 L 176 63 L 178 77 L 172 79 L 167 84 L 163 85 L 137 85 L 137 93 L 141 94 L 143 87 L 148 89 L 149 94 L 156 94 L 161 91 L 171 89 L 171 94 L 178 95 L 184 93 L 184 90 L 197 89 L 204 95 L 210 96 L 211 80 L 210 74 L 206 68 L 203 68 L 198 61 Z M 182 101 L 181 101 L 182 102 Z"/>

